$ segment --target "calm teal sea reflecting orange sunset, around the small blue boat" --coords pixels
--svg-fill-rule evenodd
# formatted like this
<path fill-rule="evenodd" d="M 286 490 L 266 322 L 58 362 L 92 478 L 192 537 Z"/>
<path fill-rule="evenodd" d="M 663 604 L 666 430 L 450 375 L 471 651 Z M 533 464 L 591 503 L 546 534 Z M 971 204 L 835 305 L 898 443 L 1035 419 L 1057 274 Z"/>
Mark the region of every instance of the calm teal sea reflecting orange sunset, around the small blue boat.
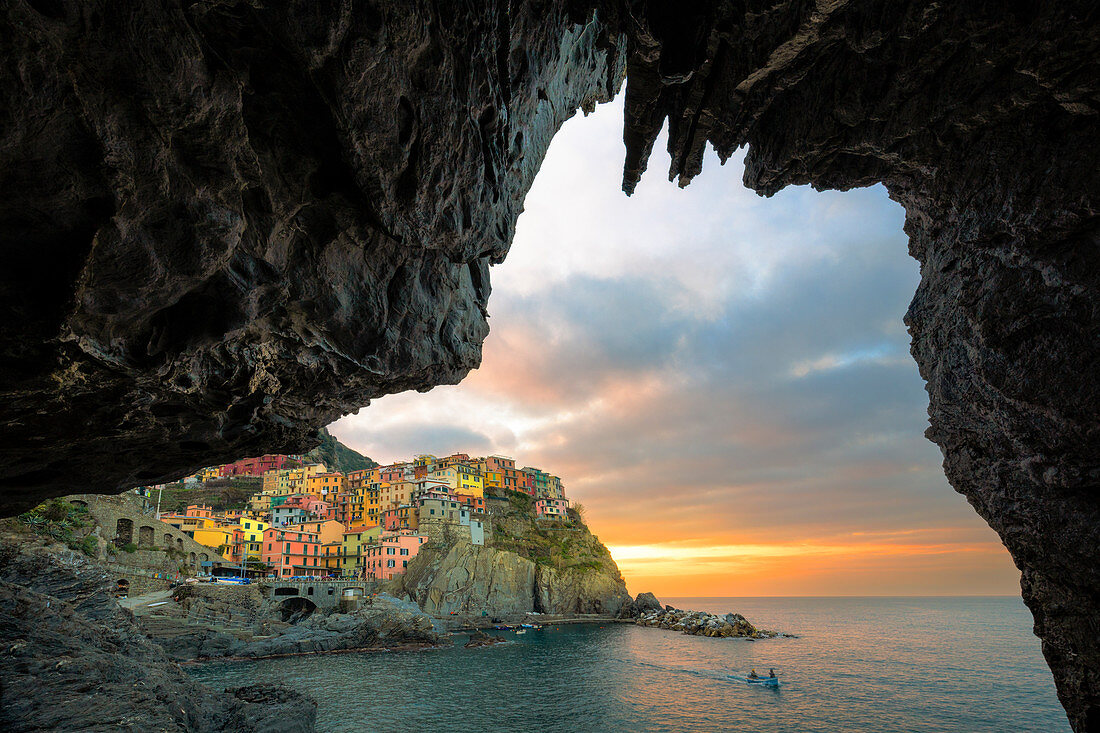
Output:
<path fill-rule="evenodd" d="M 626 624 L 495 632 L 507 644 L 209 663 L 217 688 L 282 682 L 320 731 L 1069 731 L 1015 598 L 662 599 L 799 638 Z M 778 689 L 750 686 L 755 667 Z"/>

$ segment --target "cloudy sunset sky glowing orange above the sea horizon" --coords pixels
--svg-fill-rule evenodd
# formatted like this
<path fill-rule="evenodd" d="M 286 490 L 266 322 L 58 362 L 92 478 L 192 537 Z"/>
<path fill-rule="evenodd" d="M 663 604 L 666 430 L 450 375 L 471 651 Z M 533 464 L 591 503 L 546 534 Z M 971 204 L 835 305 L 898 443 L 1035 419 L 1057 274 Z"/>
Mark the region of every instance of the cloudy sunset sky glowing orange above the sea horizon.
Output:
<path fill-rule="evenodd" d="M 503 453 L 562 478 L 631 593 L 1019 594 L 924 437 L 920 280 L 881 186 L 762 198 L 744 156 L 620 190 L 622 97 L 568 121 L 492 269 L 482 366 L 332 433 L 382 462 Z"/>

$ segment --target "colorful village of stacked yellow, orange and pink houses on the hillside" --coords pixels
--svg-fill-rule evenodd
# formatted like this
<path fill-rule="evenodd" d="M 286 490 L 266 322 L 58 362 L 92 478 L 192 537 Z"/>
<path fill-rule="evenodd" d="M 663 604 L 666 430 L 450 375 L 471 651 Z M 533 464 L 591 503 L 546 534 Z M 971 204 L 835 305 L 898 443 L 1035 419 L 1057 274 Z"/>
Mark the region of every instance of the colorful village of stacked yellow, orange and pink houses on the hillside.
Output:
<path fill-rule="evenodd" d="M 561 479 L 517 469 L 505 456 L 422 455 L 344 473 L 300 456 L 266 455 L 202 469 L 184 483 L 237 477 L 263 479 L 246 508 L 216 513 L 191 504 L 161 513 L 157 504 L 156 517 L 227 561 L 211 569 L 240 578 L 389 580 L 426 541 L 462 537 L 483 545 L 486 500 L 494 495 L 528 494 L 539 519 L 564 518 L 569 508 Z M 156 502 L 163 490 L 142 493 Z"/>

